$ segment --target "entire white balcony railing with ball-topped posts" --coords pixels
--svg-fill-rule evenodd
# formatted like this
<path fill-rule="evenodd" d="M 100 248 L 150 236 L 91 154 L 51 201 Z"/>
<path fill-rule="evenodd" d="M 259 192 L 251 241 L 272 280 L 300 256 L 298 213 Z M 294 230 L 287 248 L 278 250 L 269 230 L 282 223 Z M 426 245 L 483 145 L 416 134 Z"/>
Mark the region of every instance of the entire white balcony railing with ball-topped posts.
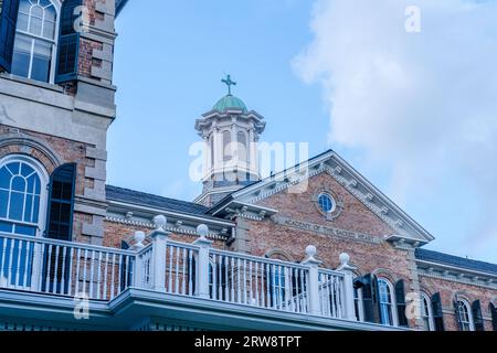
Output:
<path fill-rule="evenodd" d="M 129 250 L 0 233 L 0 288 L 108 301 L 127 288 L 231 304 L 356 320 L 352 268 L 319 268 L 308 246 L 302 264 L 212 248 L 205 228 L 193 244 L 159 226 Z"/>

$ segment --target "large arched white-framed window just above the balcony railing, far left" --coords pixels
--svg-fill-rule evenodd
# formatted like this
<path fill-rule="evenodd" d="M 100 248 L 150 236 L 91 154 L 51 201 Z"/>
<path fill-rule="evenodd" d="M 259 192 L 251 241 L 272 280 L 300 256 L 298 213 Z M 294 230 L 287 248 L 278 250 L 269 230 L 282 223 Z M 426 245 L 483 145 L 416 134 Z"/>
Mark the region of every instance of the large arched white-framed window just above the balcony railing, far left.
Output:
<path fill-rule="evenodd" d="M 46 176 L 24 158 L 0 162 L 0 232 L 35 236 L 44 218 Z"/>

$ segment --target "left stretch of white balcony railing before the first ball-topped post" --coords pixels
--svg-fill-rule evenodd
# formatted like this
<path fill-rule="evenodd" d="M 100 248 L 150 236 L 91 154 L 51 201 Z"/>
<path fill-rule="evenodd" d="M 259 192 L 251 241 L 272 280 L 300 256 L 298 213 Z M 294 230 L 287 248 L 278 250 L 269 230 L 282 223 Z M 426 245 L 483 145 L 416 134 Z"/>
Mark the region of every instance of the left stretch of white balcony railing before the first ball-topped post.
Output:
<path fill-rule="evenodd" d="M 0 288 L 110 300 L 133 281 L 136 253 L 0 233 Z"/>

